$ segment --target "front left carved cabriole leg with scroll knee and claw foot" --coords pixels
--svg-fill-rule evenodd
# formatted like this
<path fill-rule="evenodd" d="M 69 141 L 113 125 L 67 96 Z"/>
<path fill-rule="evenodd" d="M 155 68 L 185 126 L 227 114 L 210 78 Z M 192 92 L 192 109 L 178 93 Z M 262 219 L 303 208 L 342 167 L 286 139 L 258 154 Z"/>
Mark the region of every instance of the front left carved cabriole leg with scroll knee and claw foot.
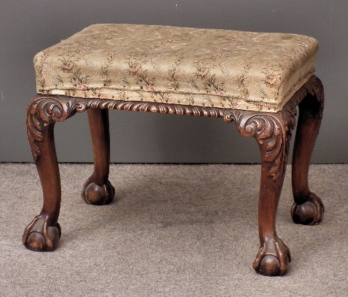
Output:
<path fill-rule="evenodd" d="M 58 96 L 37 95 L 28 106 L 26 129 L 43 194 L 42 210 L 26 227 L 22 238 L 24 246 L 31 250 L 51 251 L 58 246 L 61 179 L 54 145 L 54 124 L 84 110 L 86 104 L 83 102 Z"/>

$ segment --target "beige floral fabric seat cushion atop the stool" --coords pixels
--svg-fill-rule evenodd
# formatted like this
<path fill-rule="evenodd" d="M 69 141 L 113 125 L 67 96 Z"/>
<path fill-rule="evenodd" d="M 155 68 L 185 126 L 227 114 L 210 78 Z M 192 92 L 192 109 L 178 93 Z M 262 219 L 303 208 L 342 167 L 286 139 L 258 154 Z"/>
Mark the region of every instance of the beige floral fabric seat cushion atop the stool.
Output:
<path fill-rule="evenodd" d="M 38 93 L 280 111 L 313 75 L 317 40 L 95 24 L 34 58 Z"/>

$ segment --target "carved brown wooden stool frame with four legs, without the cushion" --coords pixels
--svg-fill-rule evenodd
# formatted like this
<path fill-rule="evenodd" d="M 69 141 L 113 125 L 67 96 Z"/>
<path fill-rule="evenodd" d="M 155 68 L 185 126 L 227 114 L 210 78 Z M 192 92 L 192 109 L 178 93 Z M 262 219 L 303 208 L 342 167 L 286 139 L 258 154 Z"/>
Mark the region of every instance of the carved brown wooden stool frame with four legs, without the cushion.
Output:
<path fill-rule="evenodd" d="M 58 216 L 61 207 L 61 179 L 54 144 L 54 125 L 75 113 L 88 110 L 93 143 L 94 172 L 84 184 L 81 196 L 88 204 L 108 204 L 115 190 L 109 182 L 110 135 L 109 109 L 150 111 L 180 115 L 203 115 L 235 122 L 238 131 L 254 137 L 261 152 L 261 180 L 258 206 L 260 250 L 253 262 L 262 275 L 283 275 L 291 261 L 290 250 L 276 234 L 276 212 L 283 186 L 287 155 L 299 118 L 292 157 L 291 209 L 294 223 L 314 225 L 322 220 L 322 200 L 308 187 L 308 169 L 324 109 L 321 81 L 313 76 L 278 113 L 243 111 L 153 102 L 124 102 L 58 95 L 36 95 L 28 106 L 26 126 L 33 159 L 43 192 L 42 211 L 26 227 L 24 245 L 31 250 L 51 251 L 61 236 Z"/>

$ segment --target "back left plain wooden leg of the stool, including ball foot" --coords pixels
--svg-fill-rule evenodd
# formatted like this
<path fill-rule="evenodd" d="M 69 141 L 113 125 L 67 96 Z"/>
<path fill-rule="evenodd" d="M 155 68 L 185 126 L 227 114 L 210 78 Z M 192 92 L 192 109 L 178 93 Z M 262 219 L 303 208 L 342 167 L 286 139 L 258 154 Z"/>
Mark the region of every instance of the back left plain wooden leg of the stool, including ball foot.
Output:
<path fill-rule="evenodd" d="M 88 121 L 93 143 L 94 172 L 84 184 L 81 197 L 88 204 L 109 204 L 115 195 L 115 189 L 109 182 L 109 111 L 88 109 Z"/>

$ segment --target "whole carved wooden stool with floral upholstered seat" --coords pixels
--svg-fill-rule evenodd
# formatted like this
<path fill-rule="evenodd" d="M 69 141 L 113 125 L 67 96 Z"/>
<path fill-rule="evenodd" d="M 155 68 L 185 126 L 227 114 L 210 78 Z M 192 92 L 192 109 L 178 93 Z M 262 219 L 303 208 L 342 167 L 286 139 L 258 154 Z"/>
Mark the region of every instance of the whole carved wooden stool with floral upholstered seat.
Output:
<path fill-rule="evenodd" d="M 260 250 L 262 275 L 283 275 L 290 250 L 276 234 L 292 129 L 299 117 L 292 159 L 294 223 L 322 220 L 322 200 L 308 188 L 308 168 L 324 109 L 324 90 L 313 75 L 317 41 L 303 35 L 171 26 L 96 24 L 34 58 L 36 95 L 26 125 L 42 184 L 43 207 L 23 235 L 37 251 L 57 248 L 61 182 L 54 125 L 88 110 L 94 172 L 81 196 L 108 204 L 109 109 L 202 115 L 235 122 L 261 152 Z"/>

